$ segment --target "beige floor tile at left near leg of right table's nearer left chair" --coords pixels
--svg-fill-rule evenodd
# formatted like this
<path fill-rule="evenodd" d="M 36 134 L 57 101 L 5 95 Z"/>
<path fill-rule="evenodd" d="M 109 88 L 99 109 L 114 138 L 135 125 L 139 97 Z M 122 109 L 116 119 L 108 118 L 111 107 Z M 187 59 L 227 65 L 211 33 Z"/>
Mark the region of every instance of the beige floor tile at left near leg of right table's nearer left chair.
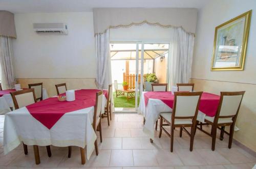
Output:
<path fill-rule="evenodd" d="M 170 152 L 167 149 L 154 150 L 157 161 L 160 166 L 181 166 L 183 165 L 176 152 Z"/>

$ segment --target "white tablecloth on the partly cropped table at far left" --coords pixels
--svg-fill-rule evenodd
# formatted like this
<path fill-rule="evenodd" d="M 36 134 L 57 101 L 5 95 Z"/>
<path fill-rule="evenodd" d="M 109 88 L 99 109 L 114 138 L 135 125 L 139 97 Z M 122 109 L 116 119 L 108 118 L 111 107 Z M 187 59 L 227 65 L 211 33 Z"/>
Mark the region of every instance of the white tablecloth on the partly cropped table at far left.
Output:
<path fill-rule="evenodd" d="M 47 98 L 48 98 L 48 93 L 45 88 L 42 88 L 42 99 L 45 100 Z M 0 97 L 0 115 L 10 112 L 11 111 L 10 107 L 12 107 L 13 110 L 15 109 L 11 94 L 7 94 Z"/>

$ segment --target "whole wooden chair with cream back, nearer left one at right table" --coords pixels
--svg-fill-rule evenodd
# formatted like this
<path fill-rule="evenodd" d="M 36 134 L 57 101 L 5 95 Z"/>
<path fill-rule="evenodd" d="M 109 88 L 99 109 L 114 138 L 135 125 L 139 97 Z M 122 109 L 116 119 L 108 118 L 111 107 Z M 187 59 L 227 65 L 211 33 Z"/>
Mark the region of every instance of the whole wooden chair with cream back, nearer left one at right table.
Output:
<path fill-rule="evenodd" d="M 180 137 L 184 129 L 190 136 L 190 151 L 193 150 L 194 136 L 197 124 L 197 114 L 199 108 L 200 98 L 203 92 L 175 92 L 173 112 L 163 112 L 160 114 L 160 132 L 162 130 L 170 137 L 170 152 L 173 152 L 174 144 L 174 128 L 180 127 Z M 167 124 L 163 124 L 163 120 Z M 170 134 L 163 126 L 170 126 Z M 184 127 L 191 127 L 189 133 Z"/>

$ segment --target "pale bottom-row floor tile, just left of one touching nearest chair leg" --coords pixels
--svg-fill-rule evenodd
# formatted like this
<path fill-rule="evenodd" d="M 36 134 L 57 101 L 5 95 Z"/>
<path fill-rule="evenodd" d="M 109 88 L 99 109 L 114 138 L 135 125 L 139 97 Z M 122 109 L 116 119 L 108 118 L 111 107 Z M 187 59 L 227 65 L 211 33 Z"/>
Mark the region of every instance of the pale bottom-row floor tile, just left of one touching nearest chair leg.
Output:
<path fill-rule="evenodd" d="M 134 166 L 158 166 L 153 150 L 133 150 Z"/>

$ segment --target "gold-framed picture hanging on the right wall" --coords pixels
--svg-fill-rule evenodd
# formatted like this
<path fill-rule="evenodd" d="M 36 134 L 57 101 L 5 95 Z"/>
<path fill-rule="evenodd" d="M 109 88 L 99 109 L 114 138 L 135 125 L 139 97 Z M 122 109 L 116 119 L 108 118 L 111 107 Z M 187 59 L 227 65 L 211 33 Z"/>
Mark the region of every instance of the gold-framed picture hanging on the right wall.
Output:
<path fill-rule="evenodd" d="M 244 70 L 251 10 L 215 28 L 211 70 Z"/>

